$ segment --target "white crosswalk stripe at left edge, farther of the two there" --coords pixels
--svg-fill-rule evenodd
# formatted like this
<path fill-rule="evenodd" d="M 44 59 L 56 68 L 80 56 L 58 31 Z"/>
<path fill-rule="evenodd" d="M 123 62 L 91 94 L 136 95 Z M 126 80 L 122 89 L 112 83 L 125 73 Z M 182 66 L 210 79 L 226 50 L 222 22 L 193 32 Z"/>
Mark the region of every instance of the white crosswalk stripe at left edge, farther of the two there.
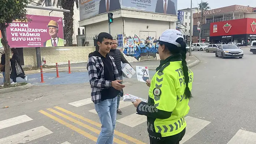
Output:
<path fill-rule="evenodd" d="M 18 125 L 20 123 L 32 121 L 33 119 L 28 117 L 27 115 L 20 115 L 18 117 L 6 119 L 3 121 L 0 121 L 0 130 L 6 127 Z"/>

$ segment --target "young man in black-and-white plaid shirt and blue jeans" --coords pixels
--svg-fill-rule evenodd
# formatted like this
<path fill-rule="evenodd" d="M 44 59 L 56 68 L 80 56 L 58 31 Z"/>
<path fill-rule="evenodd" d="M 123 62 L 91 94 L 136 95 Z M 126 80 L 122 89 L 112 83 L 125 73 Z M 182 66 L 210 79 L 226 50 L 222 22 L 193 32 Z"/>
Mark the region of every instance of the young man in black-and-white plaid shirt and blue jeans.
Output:
<path fill-rule="evenodd" d="M 98 35 L 99 51 L 89 54 L 87 70 L 91 84 L 91 100 L 101 121 L 101 133 L 97 144 L 113 144 L 116 125 L 117 96 L 123 95 L 123 88 L 114 58 L 108 53 L 112 36 L 106 32 Z"/>

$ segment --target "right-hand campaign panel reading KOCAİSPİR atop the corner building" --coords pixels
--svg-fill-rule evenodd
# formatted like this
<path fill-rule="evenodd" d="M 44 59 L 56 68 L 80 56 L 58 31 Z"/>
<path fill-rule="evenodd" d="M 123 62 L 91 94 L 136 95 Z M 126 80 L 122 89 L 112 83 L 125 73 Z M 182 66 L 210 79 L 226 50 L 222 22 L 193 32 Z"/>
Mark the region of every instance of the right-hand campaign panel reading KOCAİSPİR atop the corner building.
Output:
<path fill-rule="evenodd" d="M 177 1 L 178 0 L 122 0 L 121 7 L 176 15 L 178 11 Z"/>

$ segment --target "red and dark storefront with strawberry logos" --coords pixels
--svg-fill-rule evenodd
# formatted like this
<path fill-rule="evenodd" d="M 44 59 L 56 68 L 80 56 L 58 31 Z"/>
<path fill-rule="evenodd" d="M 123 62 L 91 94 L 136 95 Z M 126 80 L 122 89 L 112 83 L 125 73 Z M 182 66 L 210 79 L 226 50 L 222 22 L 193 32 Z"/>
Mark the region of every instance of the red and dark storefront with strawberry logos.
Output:
<path fill-rule="evenodd" d="M 210 43 L 249 45 L 256 40 L 256 19 L 243 18 L 210 24 Z"/>

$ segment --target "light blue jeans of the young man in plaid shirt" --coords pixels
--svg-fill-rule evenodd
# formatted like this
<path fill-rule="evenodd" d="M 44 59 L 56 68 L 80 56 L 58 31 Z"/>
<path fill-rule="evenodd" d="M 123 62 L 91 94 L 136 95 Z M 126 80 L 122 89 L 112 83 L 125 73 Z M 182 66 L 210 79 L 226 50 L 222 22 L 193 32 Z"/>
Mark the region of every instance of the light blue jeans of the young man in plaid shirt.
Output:
<path fill-rule="evenodd" d="M 102 125 L 97 144 L 113 144 L 116 126 L 116 102 L 117 97 L 94 104 Z"/>

